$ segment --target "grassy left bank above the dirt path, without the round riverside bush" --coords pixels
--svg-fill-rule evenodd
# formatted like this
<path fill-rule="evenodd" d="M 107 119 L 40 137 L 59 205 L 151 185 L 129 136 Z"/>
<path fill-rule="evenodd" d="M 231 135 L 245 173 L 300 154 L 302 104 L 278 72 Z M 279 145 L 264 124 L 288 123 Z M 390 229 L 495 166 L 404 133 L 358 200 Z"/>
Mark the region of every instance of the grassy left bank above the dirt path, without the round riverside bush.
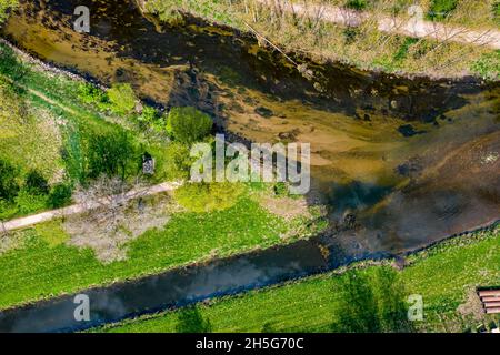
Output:
<path fill-rule="evenodd" d="M 66 205 L 77 185 L 101 174 L 131 181 L 144 152 L 156 158 L 158 173 L 141 178 L 170 178 L 173 158 L 166 141 L 144 134 L 132 114 L 86 102 L 86 88 L 0 45 L 0 220 Z"/>

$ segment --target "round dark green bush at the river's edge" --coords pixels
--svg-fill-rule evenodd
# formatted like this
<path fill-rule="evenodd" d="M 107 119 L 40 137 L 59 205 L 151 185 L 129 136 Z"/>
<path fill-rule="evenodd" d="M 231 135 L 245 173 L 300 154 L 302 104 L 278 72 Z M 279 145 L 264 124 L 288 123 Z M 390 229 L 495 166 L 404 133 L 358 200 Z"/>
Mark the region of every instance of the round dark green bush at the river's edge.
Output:
<path fill-rule="evenodd" d="M 167 133 L 187 144 L 201 141 L 212 126 L 210 116 L 194 108 L 173 108 L 167 120 Z"/>

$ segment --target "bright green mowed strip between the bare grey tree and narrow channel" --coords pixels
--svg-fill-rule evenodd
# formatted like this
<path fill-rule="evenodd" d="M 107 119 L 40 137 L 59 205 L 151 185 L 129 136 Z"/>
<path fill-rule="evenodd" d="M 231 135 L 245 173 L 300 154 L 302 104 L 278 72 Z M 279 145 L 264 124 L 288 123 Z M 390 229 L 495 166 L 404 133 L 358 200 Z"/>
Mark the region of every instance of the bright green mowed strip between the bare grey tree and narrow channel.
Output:
<path fill-rule="evenodd" d="M 51 222 L 18 232 L 20 245 L 0 255 L 0 308 L 268 247 L 288 231 L 289 223 L 243 197 L 226 211 L 173 214 L 163 230 L 131 241 L 126 261 L 102 264 L 90 248 L 63 243 L 60 224 Z"/>

